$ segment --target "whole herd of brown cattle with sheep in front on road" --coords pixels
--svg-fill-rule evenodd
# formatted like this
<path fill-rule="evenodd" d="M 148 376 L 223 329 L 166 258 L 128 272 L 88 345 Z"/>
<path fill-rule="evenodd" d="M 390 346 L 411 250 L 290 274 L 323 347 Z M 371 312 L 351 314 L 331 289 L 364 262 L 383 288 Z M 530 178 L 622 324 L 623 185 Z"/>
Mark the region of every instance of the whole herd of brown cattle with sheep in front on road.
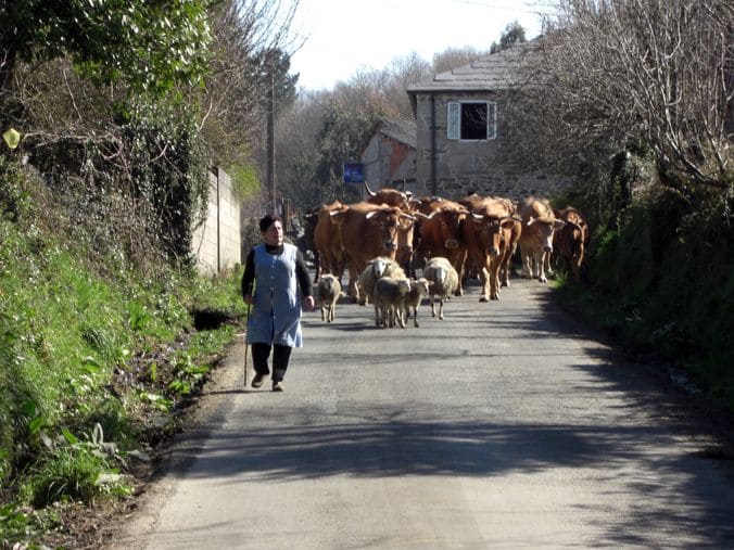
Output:
<path fill-rule="evenodd" d="M 552 263 L 580 277 L 589 225 L 571 206 L 554 210 L 546 200 L 519 202 L 470 194 L 457 201 L 414 199 L 395 189 L 371 191 L 355 204 L 334 201 L 305 215 L 305 246 L 314 255 L 321 318 L 333 320 L 349 272 L 347 294 L 375 305 L 378 325 L 405 327 L 422 296 L 439 298 L 439 318 L 450 295 L 460 296 L 471 274 L 481 281 L 480 302 L 499 299 L 509 285 L 519 245 L 522 276 L 546 282 Z M 416 266 L 422 277 L 416 278 Z"/>

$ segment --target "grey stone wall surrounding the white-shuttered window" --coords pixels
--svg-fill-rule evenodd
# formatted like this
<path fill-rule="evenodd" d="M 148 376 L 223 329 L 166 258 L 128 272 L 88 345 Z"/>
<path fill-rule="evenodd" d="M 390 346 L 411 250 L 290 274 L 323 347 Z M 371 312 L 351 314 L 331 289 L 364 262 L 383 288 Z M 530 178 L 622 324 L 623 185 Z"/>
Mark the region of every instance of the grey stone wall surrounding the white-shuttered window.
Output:
<path fill-rule="evenodd" d="M 569 181 L 545 174 L 512 168 L 498 154 L 502 131 L 495 140 L 459 141 L 446 137 L 447 103 L 465 99 L 495 101 L 491 94 L 435 95 L 418 94 L 416 101 L 417 151 L 416 193 L 448 199 L 464 196 L 467 191 L 480 195 L 499 195 L 522 199 L 529 195 L 554 196 L 568 188 Z M 497 102 L 497 117 L 502 117 L 502 103 Z M 435 124 L 435 184 L 432 178 L 431 127 Z"/>

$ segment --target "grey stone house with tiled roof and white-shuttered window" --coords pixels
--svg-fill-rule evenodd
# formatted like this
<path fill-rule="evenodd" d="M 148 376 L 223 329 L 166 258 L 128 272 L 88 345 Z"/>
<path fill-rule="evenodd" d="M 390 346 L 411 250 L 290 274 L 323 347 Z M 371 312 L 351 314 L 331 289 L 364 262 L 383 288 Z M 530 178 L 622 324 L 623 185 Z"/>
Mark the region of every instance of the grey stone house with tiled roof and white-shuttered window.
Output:
<path fill-rule="evenodd" d="M 568 183 L 510 162 L 503 107 L 519 86 L 527 44 L 485 55 L 407 89 L 416 117 L 417 195 L 467 191 L 520 199 L 548 196 Z M 517 132 L 512 132 L 517 133 Z"/>

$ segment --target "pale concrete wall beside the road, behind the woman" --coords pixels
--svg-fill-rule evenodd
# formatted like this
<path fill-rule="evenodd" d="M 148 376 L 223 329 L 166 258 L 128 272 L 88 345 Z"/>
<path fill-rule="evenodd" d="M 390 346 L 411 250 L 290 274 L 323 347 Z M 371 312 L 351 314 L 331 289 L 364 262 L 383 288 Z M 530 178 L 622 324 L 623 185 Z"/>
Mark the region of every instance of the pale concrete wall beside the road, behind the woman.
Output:
<path fill-rule="evenodd" d="M 192 244 L 199 272 L 213 276 L 243 261 L 242 231 L 240 203 L 227 172 L 212 168 L 208 183 L 206 221 L 194 231 Z"/>

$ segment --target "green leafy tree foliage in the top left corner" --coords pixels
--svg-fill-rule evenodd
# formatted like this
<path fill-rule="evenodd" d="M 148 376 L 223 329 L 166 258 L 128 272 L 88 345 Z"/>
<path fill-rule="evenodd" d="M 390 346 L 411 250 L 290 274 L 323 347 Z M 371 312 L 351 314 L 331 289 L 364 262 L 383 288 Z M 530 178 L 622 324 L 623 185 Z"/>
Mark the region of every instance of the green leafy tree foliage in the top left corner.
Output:
<path fill-rule="evenodd" d="M 98 84 L 162 94 L 199 79 L 211 41 L 210 0 L 26 0 L 0 5 L 0 97 L 18 62 L 71 55 Z"/>

